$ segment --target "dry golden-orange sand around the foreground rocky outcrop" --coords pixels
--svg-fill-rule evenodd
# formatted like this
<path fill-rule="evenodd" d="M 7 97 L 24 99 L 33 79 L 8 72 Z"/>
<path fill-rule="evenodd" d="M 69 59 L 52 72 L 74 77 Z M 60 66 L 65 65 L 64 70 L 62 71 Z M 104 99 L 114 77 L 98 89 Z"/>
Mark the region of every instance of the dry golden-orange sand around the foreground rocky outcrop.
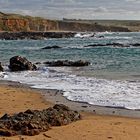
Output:
<path fill-rule="evenodd" d="M 52 91 L 46 91 L 48 95 Z M 27 109 L 44 109 L 55 102 L 47 101 L 42 92 L 15 84 L 0 85 L 0 116 Z M 48 96 L 49 97 L 49 96 Z M 49 97 L 50 98 L 50 97 Z M 48 98 L 48 99 L 49 99 Z M 58 98 L 58 97 L 57 97 Z M 56 102 L 57 101 L 56 99 Z M 59 100 L 59 99 L 58 99 Z M 90 111 L 80 111 L 82 120 L 66 126 L 52 127 L 51 130 L 36 136 L 1 137 L 1 140 L 138 140 L 140 119 L 120 116 L 98 115 Z M 97 108 L 96 108 L 97 109 Z M 123 111 L 121 111 L 123 112 Z M 124 111 L 125 112 L 125 111 Z M 130 111 L 131 112 L 131 111 Z M 99 113 L 100 114 L 100 113 Z M 123 113 L 122 113 L 123 114 Z M 125 113 L 124 113 L 125 114 Z M 127 113 L 126 113 L 127 114 Z M 135 114 L 135 113 L 133 113 Z M 133 115 L 132 115 L 133 116 Z"/>

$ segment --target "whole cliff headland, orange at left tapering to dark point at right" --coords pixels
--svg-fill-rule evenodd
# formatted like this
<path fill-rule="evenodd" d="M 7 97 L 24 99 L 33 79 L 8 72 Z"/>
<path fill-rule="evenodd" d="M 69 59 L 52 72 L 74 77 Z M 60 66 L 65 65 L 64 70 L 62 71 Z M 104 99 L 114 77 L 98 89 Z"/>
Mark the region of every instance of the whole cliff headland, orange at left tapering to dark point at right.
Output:
<path fill-rule="evenodd" d="M 5 14 L 0 12 L 0 31 L 120 31 L 128 32 L 128 28 L 107 26 L 97 23 L 67 22 L 49 20 L 40 17 Z"/>

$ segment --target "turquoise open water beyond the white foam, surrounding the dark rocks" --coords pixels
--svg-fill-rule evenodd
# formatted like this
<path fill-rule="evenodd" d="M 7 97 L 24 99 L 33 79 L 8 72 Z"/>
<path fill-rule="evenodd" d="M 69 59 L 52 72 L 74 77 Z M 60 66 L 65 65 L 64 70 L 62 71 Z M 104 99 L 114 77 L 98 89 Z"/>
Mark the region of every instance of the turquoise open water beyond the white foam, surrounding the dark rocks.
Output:
<path fill-rule="evenodd" d="M 47 60 L 87 60 L 91 65 L 81 68 L 78 74 L 102 78 L 140 78 L 140 46 L 130 48 L 94 47 L 90 44 L 139 43 L 140 33 L 103 34 L 105 38 L 70 38 L 49 40 L 0 41 L 0 61 L 8 64 L 14 55 L 27 57 L 33 62 Z M 62 49 L 41 50 L 45 46 L 58 45 Z M 76 72 L 74 70 L 74 72 Z"/>

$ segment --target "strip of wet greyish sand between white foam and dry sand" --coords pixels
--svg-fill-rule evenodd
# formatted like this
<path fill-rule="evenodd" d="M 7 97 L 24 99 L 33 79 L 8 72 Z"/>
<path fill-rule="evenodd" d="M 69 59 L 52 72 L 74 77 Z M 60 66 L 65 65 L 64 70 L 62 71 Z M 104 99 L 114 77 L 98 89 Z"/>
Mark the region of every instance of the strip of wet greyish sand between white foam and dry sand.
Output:
<path fill-rule="evenodd" d="M 39 93 L 44 101 L 51 104 L 64 104 L 70 107 L 72 110 L 77 110 L 79 112 L 92 113 L 96 115 L 105 115 L 105 116 L 117 116 L 117 117 L 128 117 L 128 118 L 140 118 L 139 110 L 130 110 L 119 107 L 106 107 L 106 106 L 97 106 L 91 105 L 86 102 L 78 102 L 68 100 L 63 96 L 63 92 L 53 89 L 37 89 L 30 87 L 29 85 L 22 84 L 19 82 L 13 81 L 3 81 L 0 80 L 0 86 L 10 86 L 14 88 L 23 88 L 25 90 L 29 89 L 33 92 Z"/>

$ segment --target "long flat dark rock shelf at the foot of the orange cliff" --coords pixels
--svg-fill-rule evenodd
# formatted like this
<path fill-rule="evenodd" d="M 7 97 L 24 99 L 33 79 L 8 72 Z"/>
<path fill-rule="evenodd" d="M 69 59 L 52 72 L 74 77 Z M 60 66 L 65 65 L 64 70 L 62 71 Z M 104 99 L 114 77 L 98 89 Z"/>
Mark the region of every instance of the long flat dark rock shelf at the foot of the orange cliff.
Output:
<path fill-rule="evenodd" d="M 71 38 L 76 32 L 0 32 L 1 40 Z"/>

